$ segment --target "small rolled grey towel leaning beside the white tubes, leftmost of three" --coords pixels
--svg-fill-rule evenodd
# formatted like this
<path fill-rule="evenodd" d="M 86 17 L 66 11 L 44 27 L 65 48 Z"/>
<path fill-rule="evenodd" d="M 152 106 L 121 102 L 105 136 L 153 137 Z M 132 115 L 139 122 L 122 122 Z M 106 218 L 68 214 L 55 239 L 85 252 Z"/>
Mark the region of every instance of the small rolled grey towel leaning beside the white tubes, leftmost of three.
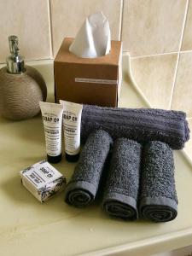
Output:
<path fill-rule="evenodd" d="M 95 200 L 112 143 L 106 131 L 98 130 L 90 134 L 65 190 L 65 201 L 68 204 L 86 207 Z"/>

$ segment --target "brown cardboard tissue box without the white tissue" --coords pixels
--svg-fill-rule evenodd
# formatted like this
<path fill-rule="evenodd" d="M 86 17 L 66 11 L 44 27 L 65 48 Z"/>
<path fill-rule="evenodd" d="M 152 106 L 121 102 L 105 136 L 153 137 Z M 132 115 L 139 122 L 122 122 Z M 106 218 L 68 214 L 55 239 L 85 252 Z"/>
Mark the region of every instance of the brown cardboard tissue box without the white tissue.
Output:
<path fill-rule="evenodd" d="M 73 38 L 65 38 L 54 61 L 55 102 L 117 107 L 121 84 L 122 44 L 111 42 L 110 54 L 80 58 L 69 51 Z"/>

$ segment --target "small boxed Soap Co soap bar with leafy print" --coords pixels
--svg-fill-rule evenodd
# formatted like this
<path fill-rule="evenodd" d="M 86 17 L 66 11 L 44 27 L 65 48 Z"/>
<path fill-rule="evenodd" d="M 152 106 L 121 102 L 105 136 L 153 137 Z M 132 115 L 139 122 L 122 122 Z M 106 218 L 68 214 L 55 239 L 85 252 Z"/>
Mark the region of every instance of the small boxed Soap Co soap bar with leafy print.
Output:
<path fill-rule="evenodd" d="M 46 160 L 20 172 L 21 182 L 38 201 L 47 201 L 66 185 L 66 178 Z"/>

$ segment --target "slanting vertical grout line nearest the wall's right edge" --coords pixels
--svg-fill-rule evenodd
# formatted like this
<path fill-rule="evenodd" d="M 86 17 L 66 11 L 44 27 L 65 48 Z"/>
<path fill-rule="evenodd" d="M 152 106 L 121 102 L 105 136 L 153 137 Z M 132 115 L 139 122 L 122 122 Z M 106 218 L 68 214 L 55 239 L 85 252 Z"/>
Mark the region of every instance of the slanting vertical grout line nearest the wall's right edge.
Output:
<path fill-rule="evenodd" d="M 172 93 L 171 93 L 171 98 L 170 98 L 168 109 L 172 108 L 172 98 L 173 98 L 173 93 L 174 93 L 175 84 L 176 84 L 176 80 L 177 80 L 178 62 L 180 60 L 180 52 L 181 52 L 182 43 L 183 43 L 183 36 L 184 36 L 184 30 L 185 30 L 185 26 L 186 26 L 188 10 L 189 10 L 189 0 L 187 0 L 187 2 L 186 2 L 185 12 L 184 12 L 183 27 L 182 27 L 181 39 L 180 39 L 180 43 L 179 43 L 177 62 L 176 62 L 176 69 L 175 69 L 175 73 L 174 73 L 174 77 L 173 77 Z"/>

